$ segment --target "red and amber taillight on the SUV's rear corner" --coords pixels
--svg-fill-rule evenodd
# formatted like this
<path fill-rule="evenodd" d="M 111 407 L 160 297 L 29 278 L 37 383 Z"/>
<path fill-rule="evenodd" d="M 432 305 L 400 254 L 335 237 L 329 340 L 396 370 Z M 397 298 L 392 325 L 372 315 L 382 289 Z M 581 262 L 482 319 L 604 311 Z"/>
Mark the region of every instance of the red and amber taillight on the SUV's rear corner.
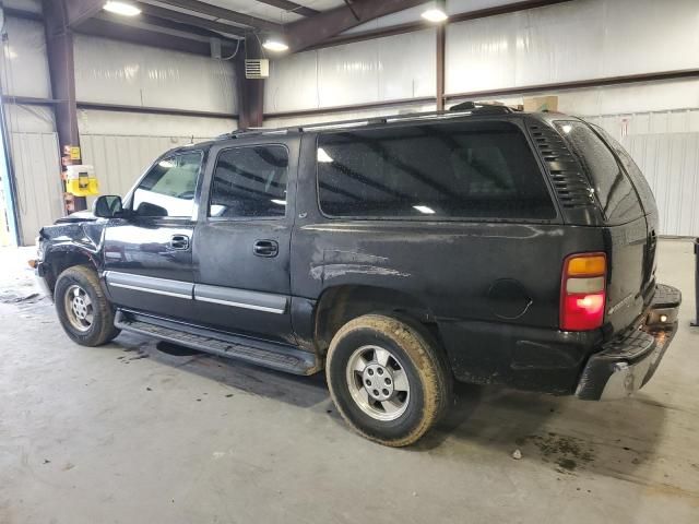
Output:
<path fill-rule="evenodd" d="M 562 331 L 588 331 L 602 326 L 606 267 L 604 253 L 578 253 L 566 258 L 560 285 Z"/>

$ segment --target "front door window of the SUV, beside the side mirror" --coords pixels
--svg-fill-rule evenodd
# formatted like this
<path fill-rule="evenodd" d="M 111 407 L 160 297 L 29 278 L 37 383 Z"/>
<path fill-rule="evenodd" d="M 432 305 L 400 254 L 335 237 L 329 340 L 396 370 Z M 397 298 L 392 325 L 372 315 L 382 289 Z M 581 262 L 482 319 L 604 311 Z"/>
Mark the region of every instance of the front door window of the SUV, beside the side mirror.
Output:
<path fill-rule="evenodd" d="M 132 209 L 141 216 L 191 216 L 201 158 L 196 152 L 158 162 L 135 189 Z"/>

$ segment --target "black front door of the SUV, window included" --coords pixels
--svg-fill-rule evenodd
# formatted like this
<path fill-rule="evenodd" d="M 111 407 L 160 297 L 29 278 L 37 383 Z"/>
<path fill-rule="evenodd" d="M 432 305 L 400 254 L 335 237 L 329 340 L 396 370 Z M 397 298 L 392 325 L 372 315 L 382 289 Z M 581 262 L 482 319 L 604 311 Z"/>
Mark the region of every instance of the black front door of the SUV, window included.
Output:
<path fill-rule="evenodd" d="M 127 198 L 132 210 L 105 229 L 105 282 L 122 308 L 163 317 L 192 315 L 192 241 L 204 153 L 158 160 Z"/>

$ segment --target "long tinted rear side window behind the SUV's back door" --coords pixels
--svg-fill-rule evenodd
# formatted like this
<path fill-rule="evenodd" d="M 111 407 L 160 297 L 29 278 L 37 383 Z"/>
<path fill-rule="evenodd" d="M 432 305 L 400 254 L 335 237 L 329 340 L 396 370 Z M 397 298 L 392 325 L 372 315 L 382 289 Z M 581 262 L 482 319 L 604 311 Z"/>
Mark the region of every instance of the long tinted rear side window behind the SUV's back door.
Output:
<path fill-rule="evenodd" d="M 524 135 L 507 122 L 321 134 L 318 187 L 333 216 L 556 216 Z"/>

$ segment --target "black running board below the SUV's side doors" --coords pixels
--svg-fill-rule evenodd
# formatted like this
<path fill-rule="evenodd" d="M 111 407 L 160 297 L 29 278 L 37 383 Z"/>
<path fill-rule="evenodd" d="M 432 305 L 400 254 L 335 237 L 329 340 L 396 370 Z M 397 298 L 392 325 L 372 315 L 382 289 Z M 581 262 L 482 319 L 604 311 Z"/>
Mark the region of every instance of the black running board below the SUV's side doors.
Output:
<path fill-rule="evenodd" d="M 322 369 L 316 355 L 291 345 L 228 335 L 123 310 L 117 311 L 114 323 L 122 331 L 287 373 L 313 374 Z"/>

